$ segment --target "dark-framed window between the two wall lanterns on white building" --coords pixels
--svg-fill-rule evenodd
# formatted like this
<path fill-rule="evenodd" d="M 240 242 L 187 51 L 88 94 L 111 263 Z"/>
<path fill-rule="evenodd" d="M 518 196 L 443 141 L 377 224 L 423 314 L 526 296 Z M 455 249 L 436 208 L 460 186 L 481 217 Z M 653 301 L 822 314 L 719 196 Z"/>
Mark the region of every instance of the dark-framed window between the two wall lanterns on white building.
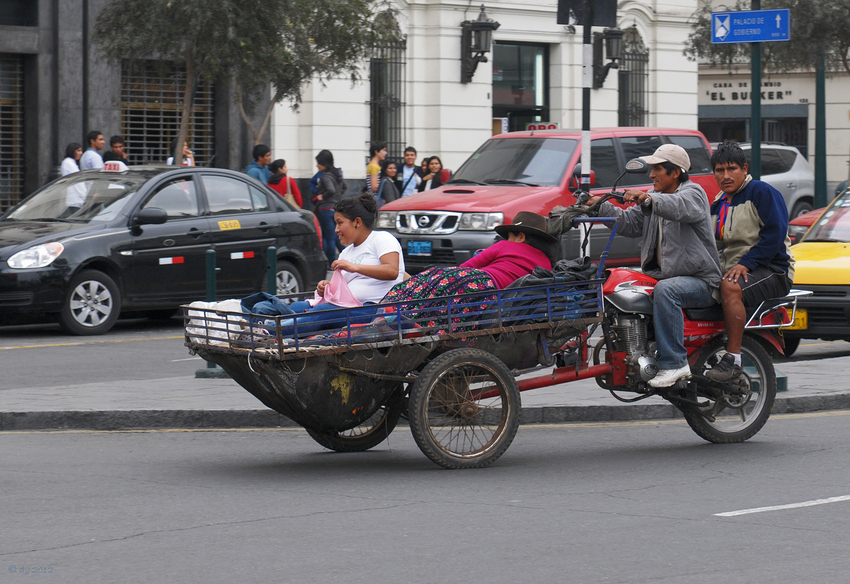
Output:
<path fill-rule="evenodd" d="M 508 131 L 549 120 L 549 47 L 493 45 L 493 117 L 508 118 Z"/>

